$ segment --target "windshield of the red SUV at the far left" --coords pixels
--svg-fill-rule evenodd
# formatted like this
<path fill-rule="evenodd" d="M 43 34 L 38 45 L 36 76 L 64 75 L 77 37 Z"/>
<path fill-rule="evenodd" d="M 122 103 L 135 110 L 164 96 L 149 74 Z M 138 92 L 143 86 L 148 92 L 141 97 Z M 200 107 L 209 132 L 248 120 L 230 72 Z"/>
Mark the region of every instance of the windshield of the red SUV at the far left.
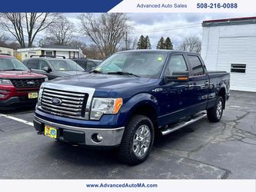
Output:
<path fill-rule="evenodd" d="M 0 58 L 0 70 L 2 71 L 28 71 L 28 68 L 16 58 Z"/>

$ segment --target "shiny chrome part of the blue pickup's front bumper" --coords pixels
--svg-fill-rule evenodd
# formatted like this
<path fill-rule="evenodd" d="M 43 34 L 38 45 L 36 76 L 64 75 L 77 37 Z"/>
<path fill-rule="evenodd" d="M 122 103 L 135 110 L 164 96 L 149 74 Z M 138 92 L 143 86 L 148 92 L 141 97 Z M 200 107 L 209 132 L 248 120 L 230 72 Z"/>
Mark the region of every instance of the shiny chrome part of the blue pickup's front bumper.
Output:
<path fill-rule="evenodd" d="M 58 124 L 51 121 L 46 121 L 42 118 L 38 118 L 36 115 L 35 115 L 34 121 L 37 121 L 43 124 L 48 124 L 53 127 L 63 128 L 66 130 L 82 131 L 85 133 L 85 145 L 91 145 L 91 146 L 105 146 L 105 147 L 117 146 L 121 144 L 121 138 L 125 131 L 125 127 L 90 128 L 90 127 L 69 126 L 65 124 Z M 103 140 L 99 143 L 95 143 L 94 141 L 91 140 L 92 134 L 101 134 L 103 137 Z"/>

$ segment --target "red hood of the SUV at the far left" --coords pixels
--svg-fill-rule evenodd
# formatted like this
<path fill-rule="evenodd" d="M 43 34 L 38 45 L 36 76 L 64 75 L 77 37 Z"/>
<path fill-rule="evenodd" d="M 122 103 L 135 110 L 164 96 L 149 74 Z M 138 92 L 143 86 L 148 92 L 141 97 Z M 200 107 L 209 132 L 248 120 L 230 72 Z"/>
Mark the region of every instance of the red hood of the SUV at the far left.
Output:
<path fill-rule="evenodd" d="M 46 76 L 31 71 L 0 71 L 0 78 L 46 78 Z"/>

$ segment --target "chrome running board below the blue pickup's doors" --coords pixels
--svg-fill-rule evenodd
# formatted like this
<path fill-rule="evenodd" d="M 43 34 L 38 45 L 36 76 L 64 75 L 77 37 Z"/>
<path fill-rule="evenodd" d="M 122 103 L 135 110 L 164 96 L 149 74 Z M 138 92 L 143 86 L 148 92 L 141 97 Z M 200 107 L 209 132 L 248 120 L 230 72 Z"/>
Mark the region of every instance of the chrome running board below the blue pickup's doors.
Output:
<path fill-rule="evenodd" d="M 207 114 L 206 113 L 200 113 L 200 114 L 196 114 L 193 118 L 191 118 L 191 120 L 189 121 L 185 121 L 185 122 L 180 122 L 178 124 L 173 125 L 172 127 L 167 127 L 165 130 L 161 131 L 162 135 L 165 134 L 170 134 L 173 131 L 176 131 L 182 127 L 187 126 L 188 124 L 193 124 L 195 121 L 200 120 L 201 118 L 204 118 Z"/>

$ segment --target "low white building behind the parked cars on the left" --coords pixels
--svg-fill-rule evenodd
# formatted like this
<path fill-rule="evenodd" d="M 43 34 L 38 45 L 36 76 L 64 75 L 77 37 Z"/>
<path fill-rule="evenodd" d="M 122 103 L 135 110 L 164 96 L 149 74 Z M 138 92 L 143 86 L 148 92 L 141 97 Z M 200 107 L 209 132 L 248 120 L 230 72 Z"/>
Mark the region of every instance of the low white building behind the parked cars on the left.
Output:
<path fill-rule="evenodd" d="M 17 58 L 24 60 L 30 58 L 31 55 L 52 55 L 52 56 L 65 56 L 65 58 L 81 58 L 81 48 L 73 48 L 66 45 L 47 45 L 38 48 L 18 48 Z"/>

